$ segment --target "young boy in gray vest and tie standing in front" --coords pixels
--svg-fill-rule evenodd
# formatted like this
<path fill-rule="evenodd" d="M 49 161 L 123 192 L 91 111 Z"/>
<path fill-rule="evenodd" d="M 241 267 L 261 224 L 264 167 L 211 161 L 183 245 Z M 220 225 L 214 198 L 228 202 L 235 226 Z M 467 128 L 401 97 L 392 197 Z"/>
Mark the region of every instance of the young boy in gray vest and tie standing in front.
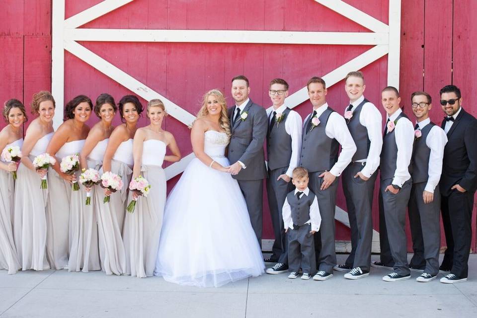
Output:
<path fill-rule="evenodd" d="M 288 193 L 283 204 L 282 216 L 285 232 L 288 233 L 288 278 L 297 278 L 298 269 L 303 270 L 302 279 L 310 279 L 317 271 L 315 241 L 321 223 L 318 200 L 308 188 L 308 170 L 296 167 L 292 183 L 296 189 Z"/>

